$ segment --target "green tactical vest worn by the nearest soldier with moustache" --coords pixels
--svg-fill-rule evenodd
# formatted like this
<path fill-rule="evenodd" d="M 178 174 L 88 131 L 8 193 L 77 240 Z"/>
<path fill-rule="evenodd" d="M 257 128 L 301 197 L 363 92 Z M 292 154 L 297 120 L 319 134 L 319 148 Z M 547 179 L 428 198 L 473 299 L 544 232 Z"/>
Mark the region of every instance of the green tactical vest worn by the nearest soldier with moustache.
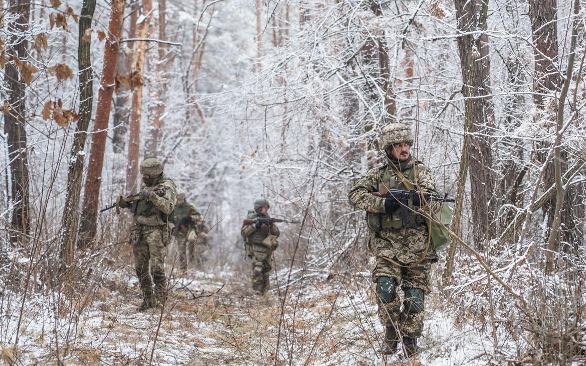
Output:
<path fill-rule="evenodd" d="M 403 177 L 411 182 L 415 181 L 415 162 L 413 167 L 408 168 L 401 172 Z M 398 177 L 397 174 L 391 172 L 389 167 L 384 167 L 383 177 L 379 182 L 379 193 L 386 194 L 389 189 L 403 189 L 407 190 L 403 181 Z M 403 206 L 401 206 L 403 207 Z M 391 213 L 374 213 L 366 212 L 366 224 L 372 231 L 392 231 L 401 228 L 411 228 L 413 226 L 421 225 L 425 223 L 425 219 L 421 215 L 416 215 L 413 211 L 413 201 L 407 201 L 407 215 L 409 216 L 409 222 L 406 224 L 403 222 L 403 215 L 401 215 L 401 207 L 397 208 Z"/>

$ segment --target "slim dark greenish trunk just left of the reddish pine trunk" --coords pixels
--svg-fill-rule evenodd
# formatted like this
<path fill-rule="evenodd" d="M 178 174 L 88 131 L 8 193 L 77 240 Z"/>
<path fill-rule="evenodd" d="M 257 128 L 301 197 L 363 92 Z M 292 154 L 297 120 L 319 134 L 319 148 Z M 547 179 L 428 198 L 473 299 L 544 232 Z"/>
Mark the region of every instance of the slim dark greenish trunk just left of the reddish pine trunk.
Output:
<path fill-rule="evenodd" d="M 87 127 L 90 126 L 93 93 L 93 69 L 91 67 L 91 38 L 83 39 L 86 29 L 91 28 L 96 0 L 84 0 L 79 19 L 79 45 L 77 49 L 79 69 L 79 121 L 71 145 L 69 173 L 67 174 L 66 210 L 63 211 L 63 232 L 61 236 L 61 262 L 68 267 L 73 262 L 73 252 L 77 241 L 77 224 L 79 222 L 79 197 L 83 179 L 83 150 L 86 146 Z"/>

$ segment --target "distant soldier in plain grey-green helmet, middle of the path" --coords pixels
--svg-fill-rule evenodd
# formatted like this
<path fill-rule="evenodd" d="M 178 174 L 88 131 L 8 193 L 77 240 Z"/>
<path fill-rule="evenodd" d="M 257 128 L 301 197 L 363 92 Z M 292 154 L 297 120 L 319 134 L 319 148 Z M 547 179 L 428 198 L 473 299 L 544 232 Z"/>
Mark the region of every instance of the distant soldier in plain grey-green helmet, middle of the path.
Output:
<path fill-rule="evenodd" d="M 246 218 L 250 223 L 243 223 L 240 233 L 244 238 L 246 254 L 253 264 L 253 289 L 262 295 L 268 290 L 268 276 L 271 272 L 272 251 L 277 249 L 279 229 L 268 215 L 268 201 L 264 198 L 254 201 L 254 211 Z"/>

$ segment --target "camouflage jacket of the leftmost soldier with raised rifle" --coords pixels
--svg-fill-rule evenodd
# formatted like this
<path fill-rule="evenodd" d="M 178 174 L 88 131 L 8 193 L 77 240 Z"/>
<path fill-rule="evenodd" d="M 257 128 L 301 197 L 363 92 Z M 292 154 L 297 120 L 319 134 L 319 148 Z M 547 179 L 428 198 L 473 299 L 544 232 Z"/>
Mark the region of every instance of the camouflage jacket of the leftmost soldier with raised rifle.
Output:
<path fill-rule="evenodd" d="M 134 223 L 148 226 L 161 226 L 173 223 L 173 209 L 175 209 L 176 202 L 176 187 L 175 182 L 167 178 L 164 174 L 152 186 L 142 184 L 141 192 L 155 191 L 156 195 L 151 196 L 152 201 L 148 198 L 142 198 L 137 202 L 137 207 L 134 212 Z M 132 203 L 125 203 L 121 207 L 130 207 Z"/>

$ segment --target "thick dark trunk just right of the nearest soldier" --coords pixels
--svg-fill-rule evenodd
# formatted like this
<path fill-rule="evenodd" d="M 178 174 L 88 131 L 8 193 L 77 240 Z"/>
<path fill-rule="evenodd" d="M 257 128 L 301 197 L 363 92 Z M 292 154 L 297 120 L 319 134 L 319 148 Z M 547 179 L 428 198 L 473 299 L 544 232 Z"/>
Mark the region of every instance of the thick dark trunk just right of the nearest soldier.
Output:
<path fill-rule="evenodd" d="M 465 97 L 465 133 L 471 137 L 462 149 L 463 160 L 469 154 L 472 199 L 473 240 L 477 249 L 485 248 L 495 236 L 495 209 L 498 199 L 495 177 L 492 173 L 491 130 L 494 124 L 490 97 L 490 60 L 488 38 L 477 38 L 472 32 L 486 30 L 488 0 L 476 2 L 454 0 L 458 30 L 466 35 L 458 37 L 458 50 L 462 67 L 462 93 Z M 460 177 L 465 183 L 466 177 Z M 455 213 L 456 216 L 460 212 Z"/>

